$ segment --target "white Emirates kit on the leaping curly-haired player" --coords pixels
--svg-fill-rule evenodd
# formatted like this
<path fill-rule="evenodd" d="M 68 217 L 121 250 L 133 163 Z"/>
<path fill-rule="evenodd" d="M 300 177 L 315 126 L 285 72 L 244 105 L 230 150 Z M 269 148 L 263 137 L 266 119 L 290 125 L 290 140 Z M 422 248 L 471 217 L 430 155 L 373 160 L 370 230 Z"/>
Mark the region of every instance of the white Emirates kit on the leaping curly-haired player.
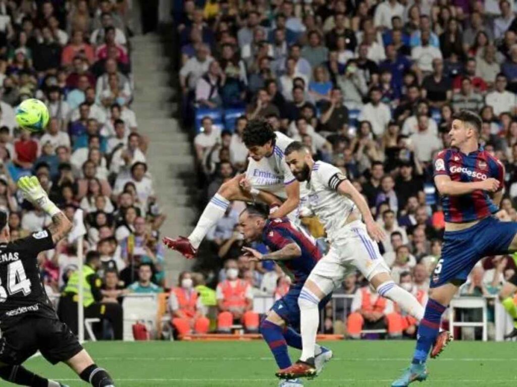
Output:
<path fill-rule="evenodd" d="M 255 161 L 249 157 L 246 178 L 250 181 L 253 188 L 270 192 L 280 199 L 286 199 L 285 186 L 293 183 L 296 179 L 287 163 L 285 163 L 284 150 L 294 140 L 280 132 L 275 132 L 275 134 L 277 138 L 271 156 L 262 157 L 260 161 Z M 303 184 L 300 184 L 300 204 L 298 209 L 289 214 L 291 220 L 297 222 L 299 222 L 299 210 L 307 201 L 307 190 L 302 188 L 302 186 Z"/>

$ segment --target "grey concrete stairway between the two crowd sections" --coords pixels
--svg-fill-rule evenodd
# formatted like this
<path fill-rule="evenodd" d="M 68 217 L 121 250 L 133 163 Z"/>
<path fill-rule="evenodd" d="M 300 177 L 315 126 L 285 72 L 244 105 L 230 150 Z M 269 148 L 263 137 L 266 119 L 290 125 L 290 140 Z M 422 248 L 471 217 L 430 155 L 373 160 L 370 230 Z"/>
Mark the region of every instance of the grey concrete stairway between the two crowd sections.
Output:
<path fill-rule="evenodd" d="M 147 163 L 161 212 L 167 216 L 161 236 L 188 235 L 195 221 L 195 169 L 189 135 L 172 117 L 177 110 L 171 71 L 172 44 L 160 35 L 137 35 L 131 39 L 134 101 L 139 132 L 149 138 Z M 161 240 L 160 240 L 161 243 Z M 181 270 L 190 267 L 183 256 L 165 252 L 168 285 Z"/>

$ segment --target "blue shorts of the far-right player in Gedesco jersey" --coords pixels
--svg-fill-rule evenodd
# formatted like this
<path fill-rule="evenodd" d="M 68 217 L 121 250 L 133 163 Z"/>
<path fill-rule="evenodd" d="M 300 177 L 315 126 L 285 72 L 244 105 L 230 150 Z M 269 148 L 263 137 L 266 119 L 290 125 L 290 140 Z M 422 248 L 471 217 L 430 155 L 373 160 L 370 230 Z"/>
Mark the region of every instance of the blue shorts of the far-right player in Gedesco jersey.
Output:
<path fill-rule="evenodd" d="M 431 275 L 430 287 L 453 281 L 461 284 L 476 263 L 490 255 L 507 254 L 517 234 L 517 222 L 501 222 L 490 216 L 461 231 L 446 231 L 442 256 Z"/>

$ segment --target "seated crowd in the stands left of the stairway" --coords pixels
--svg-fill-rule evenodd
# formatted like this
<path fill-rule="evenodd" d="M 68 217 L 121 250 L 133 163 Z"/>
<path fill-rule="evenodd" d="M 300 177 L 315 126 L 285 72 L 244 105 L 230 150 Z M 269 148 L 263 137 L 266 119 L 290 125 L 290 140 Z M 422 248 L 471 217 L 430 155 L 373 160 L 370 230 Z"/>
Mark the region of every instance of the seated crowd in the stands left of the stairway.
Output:
<path fill-rule="evenodd" d="M 85 285 L 87 315 L 107 317 L 115 338 L 120 296 L 164 285 L 164 216 L 147 172 L 148 141 L 131 110 L 130 34 L 125 1 L 0 2 L 0 208 L 9 212 L 12 239 L 50 224 L 17 191 L 21 176 L 37 176 L 74 220 L 68 238 L 39 256 L 47 293 L 70 298 L 59 302 L 59 315 L 77 330 L 82 282 L 74 272 L 84 235 L 85 276 L 95 279 Z M 49 108 L 43 133 L 16 123 L 14 111 L 27 98 Z M 94 310 L 101 302 L 109 313 Z"/>

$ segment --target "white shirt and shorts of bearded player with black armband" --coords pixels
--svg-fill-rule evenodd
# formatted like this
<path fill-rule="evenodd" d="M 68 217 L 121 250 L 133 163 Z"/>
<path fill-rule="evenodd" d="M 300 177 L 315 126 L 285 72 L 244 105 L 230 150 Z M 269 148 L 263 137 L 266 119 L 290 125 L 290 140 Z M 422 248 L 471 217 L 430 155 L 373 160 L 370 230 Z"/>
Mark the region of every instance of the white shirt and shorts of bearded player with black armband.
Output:
<path fill-rule="evenodd" d="M 343 180 L 346 177 L 338 168 L 318 161 L 314 163 L 310 180 L 304 184 L 309 207 L 323 223 L 330 243 L 328 253 L 309 276 L 326 294 L 340 286 L 346 274 L 356 269 L 368 280 L 390 271 L 377 244 L 368 235 L 366 225 L 361 220 L 345 224 L 349 215 L 360 216 L 360 213 L 351 199 L 337 191 Z"/>

